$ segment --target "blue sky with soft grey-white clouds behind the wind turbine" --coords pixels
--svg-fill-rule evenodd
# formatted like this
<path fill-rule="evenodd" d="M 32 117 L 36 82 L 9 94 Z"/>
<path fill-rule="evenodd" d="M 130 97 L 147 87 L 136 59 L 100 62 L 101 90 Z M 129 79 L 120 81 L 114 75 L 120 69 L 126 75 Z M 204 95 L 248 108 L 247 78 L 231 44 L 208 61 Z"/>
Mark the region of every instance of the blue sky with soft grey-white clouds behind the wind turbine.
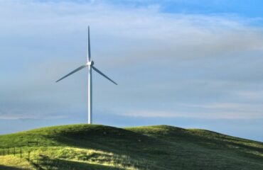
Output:
<path fill-rule="evenodd" d="M 263 2 L 1 0 L 0 134 L 173 125 L 263 142 Z"/>

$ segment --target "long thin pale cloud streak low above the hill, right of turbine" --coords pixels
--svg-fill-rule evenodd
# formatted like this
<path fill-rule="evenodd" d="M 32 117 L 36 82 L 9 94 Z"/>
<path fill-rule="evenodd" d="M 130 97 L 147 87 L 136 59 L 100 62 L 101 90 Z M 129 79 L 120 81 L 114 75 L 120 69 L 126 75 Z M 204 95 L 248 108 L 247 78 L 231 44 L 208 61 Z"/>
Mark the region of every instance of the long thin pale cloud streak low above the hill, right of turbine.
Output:
<path fill-rule="evenodd" d="M 230 107 L 229 107 L 230 106 Z M 263 115 L 259 109 L 252 107 L 244 107 L 242 105 L 239 108 L 232 109 L 232 105 L 223 104 L 219 106 L 190 106 L 194 108 L 219 108 L 217 110 L 202 110 L 202 111 L 191 111 L 191 112 L 181 112 L 176 111 L 155 111 L 155 110 L 134 110 L 134 111 L 122 111 L 119 115 L 126 115 L 135 118 L 198 118 L 198 119 L 210 119 L 210 120 L 242 120 L 242 119 L 262 119 Z M 189 106 L 188 106 L 189 107 Z M 222 110 L 222 107 L 225 110 Z M 260 106 L 260 108 L 263 108 Z"/>

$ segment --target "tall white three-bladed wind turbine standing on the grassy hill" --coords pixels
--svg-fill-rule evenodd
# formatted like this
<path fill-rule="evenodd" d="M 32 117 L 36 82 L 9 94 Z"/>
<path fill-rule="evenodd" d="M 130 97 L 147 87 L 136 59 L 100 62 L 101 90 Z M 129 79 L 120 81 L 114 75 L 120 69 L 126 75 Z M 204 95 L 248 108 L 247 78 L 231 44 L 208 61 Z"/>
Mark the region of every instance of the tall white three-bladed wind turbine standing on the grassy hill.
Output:
<path fill-rule="evenodd" d="M 99 69 L 97 69 L 94 66 L 94 62 L 91 60 L 90 56 L 90 26 L 87 28 L 87 63 L 78 67 L 77 69 L 73 70 L 73 72 L 70 72 L 69 74 L 65 75 L 61 79 L 58 79 L 55 81 L 58 83 L 58 81 L 65 79 L 66 77 L 70 76 L 71 74 L 74 74 L 75 72 L 80 71 L 80 69 L 84 69 L 87 67 L 88 74 L 87 74 L 87 115 L 88 115 L 88 124 L 92 124 L 92 69 L 95 70 L 95 72 L 101 74 L 103 77 L 108 79 L 109 81 L 112 81 L 112 83 L 116 84 L 112 79 L 109 79 L 105 74 L 100 72 Z"/>

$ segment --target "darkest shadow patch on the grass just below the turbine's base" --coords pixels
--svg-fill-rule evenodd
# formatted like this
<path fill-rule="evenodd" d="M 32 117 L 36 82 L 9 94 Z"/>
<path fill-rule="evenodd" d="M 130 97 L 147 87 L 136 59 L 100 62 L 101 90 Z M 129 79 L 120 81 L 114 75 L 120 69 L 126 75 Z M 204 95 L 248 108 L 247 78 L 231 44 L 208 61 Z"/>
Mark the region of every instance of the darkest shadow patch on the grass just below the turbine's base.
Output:
<path fill-rule="evenodd" d="M 61 132 L 53 138 L 64 145 L 100 149 L 116 154 L 143 154 L 144 148 L 166 145 L 156 137 L 107 126 L 87 128 L 79 132 Z"/>

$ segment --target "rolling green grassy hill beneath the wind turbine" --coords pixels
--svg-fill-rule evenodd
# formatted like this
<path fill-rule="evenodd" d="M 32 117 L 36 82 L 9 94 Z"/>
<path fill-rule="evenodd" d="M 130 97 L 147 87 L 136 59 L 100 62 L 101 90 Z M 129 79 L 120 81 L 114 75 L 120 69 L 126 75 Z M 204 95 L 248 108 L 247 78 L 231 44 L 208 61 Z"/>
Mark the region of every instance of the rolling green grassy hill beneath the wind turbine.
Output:
<path fill-rule="evenodd" d="M 167 125 L 39 128 L 0 135 L 0 147 L 0 154 L 10 148 L 0 156 L 0 169 L 263 169 L 262 142 Z"/>

